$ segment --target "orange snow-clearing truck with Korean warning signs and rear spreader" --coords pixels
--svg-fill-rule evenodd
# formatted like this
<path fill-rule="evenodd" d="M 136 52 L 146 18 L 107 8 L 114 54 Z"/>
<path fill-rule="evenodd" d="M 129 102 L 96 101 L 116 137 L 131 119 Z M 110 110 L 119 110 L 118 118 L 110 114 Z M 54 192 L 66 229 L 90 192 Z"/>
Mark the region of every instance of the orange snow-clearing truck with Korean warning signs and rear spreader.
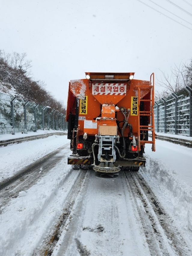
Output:
<path fill-rule="evenodd" d="M 145 166 L 145 143 L 155 151 L 154 73 L 150 81 L 135 80 L 134 73 L 85 75 L 69 83 L 68 164 L 117 176 L 123 168 L 138 171 Z"/>

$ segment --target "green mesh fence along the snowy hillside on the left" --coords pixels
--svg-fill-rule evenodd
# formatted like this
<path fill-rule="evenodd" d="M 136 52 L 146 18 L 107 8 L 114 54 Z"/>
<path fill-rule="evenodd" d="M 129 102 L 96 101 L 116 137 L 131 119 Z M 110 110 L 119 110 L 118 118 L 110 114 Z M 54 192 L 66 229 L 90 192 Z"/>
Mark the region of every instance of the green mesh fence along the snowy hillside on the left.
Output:
<path fill-rule="evenodd" d="M 65 117 L 48 106 L 0 93 L 0 134 L 67 130 Z"/>

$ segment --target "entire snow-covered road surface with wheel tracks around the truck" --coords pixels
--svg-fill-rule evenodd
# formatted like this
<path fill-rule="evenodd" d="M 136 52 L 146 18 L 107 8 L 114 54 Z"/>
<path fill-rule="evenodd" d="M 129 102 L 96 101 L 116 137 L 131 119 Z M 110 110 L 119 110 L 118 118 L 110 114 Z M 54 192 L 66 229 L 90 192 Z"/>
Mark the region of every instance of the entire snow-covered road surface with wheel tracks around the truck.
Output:
<path fill-rule="evenodd" d="M 145 151 L 104 179 L 67 165 L 66 136 L 0 147 L 0 255 L 192 255 L 192 148 Z"/>

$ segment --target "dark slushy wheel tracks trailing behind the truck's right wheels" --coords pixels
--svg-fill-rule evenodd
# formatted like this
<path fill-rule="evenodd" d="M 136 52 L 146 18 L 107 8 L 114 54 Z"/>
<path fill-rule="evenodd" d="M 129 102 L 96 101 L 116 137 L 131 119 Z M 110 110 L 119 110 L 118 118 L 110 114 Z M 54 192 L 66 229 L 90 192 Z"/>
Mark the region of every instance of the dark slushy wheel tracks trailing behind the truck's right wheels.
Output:
<path fill-rule="evenodd" d="M 139 172 L 124 172 L 151 255 L 191 255 L 172 219 Z"/>

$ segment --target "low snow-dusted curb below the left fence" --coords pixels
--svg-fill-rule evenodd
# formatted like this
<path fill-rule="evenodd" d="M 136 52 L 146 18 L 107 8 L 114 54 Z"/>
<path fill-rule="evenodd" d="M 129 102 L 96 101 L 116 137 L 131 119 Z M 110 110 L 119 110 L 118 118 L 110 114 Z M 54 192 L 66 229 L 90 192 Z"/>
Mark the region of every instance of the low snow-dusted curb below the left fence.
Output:
<path fill-rule="evenodd" d="M 52 135 L 67 135 L 67 133 L 47 133 L 47 134 L 40 134 L 40 135 L 34 135 L 34 136 L 27 136 L 23 138 L 16 138 L 16 139 L 8 139 L 8 140 L 1 140 L 0 141 L 0 147 L 2 146 L 7 146 L 9 144 L 14 144 L 14 143 L 21 143 L 29 140 L 35 140 L 35 139 L 43 139 L 47 138 Z"/>

